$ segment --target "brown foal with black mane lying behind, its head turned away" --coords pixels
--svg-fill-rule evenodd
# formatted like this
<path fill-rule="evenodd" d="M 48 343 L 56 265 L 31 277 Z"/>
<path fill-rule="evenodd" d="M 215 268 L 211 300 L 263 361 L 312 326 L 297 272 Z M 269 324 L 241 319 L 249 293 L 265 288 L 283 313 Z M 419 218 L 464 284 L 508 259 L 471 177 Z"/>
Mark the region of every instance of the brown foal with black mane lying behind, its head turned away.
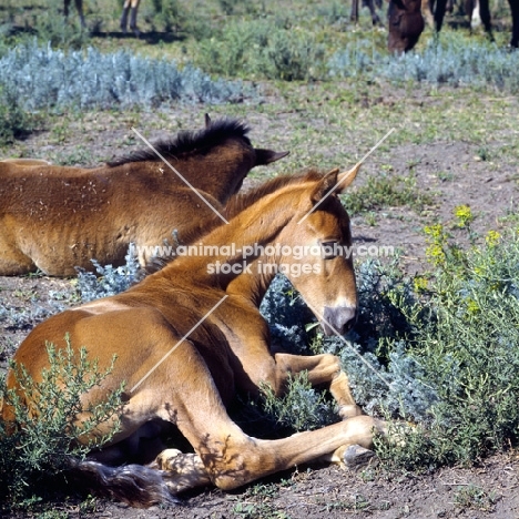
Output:
<path fill-rule="evenodd" d="M 247 132 L 223 119 L 155 144 L 194 189 L 153 150 L 95 169 L 0 162 L 0 275 L 69 276 L 92 269 L 91 260 L 118 265 L 130 243 L 144 265 L 173 231 L 182 238 L 221 211 L 252 167 L 286 155 L 253 147 Z"/>

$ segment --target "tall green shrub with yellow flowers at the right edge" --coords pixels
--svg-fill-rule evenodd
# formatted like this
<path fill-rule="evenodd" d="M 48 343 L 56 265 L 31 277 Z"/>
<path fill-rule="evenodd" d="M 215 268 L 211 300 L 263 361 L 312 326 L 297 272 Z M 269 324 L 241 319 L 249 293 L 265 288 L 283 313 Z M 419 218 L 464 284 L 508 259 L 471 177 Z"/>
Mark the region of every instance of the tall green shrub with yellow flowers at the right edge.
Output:
<path fill-rule="evenodd" d="M 467 206 L 456 218 L 470 246 L 450 242 L 440 224 L 427 227 L 435 272 L 415 279 L 420 301 L 401 307 L 413 327 L 407 353 L 438 394 L 419 435 L 436 462 L 475 461 L 519 434 L 519 237 L 490 231 L 480 240 Z"/>

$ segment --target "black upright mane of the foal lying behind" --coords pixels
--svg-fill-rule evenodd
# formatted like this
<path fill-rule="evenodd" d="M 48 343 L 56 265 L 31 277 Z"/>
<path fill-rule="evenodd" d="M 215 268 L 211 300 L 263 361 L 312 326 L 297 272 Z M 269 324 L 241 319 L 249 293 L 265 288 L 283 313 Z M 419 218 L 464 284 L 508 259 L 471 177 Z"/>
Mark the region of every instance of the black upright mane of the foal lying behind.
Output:
<path fill-rule="evenodd" d="M 246 136 L 250 128 L 236 119 L 217 119 L 207 128 L 197 131 L 185 130 L 176 138 L 160 140 L 153 143 L 154 149 L 164 157 L 179 159 L 186 153 L 222 144 L 226 139 L 241 139 L 252 145 Z M 114 159 L 106 164 L 110 167 L 128 164 L 129 162 L 159 161 L 159 155 L 150 147 L 132 152 Z"/>

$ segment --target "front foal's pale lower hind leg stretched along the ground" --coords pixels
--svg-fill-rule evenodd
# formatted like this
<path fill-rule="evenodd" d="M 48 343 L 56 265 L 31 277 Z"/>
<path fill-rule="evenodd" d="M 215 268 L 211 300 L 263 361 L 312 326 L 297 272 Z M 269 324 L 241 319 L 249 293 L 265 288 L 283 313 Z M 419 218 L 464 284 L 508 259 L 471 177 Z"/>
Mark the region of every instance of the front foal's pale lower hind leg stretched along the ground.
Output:
<path fill-rule="evenodd" d="M 223 440 L 211 444 L 212 426 Z M 161 452 L 154 468 L 164 470 L 164 484 L 172 493 L 213 484 L 223 490 L 287 470 L 302 464 L 328 461 L 343 464 L 349 446 L 369 449 L 375 432 L 384 434 L 384 425 L 369 416 L 357 416 L 323 429 L 297 432 L 277 440 L 262 440 L 236 432 L 235 424 L 213 420 L 200 431 L 204 448 L 199 454 L 182 454 L 176 449 Z M 211 445 L 211 447 L 208 447 Z"/>

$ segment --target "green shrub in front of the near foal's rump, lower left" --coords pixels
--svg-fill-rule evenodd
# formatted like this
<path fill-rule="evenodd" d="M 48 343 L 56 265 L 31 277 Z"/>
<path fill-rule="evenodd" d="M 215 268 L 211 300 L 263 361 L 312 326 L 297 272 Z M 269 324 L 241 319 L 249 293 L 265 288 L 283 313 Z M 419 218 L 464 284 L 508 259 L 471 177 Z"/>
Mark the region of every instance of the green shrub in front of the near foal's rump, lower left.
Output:
<path fill-rule="evenodd" d="M 22 365 L 11 365 L 18 383 L 29 398 L 35 398 L 31 413 L 22 398 L 6 389 L 1 380 L 0 397 L 14 409 L 14 421 L 0 421 L 0 501 L 2 507 L 18 508 L 38 502 L 54 493 L 50 482 L 70 468 L 72 458 L 82 458 L 93 445 L 109 441 L 119 429 L 122 387 L 109 394 L 102 403 L 83 407 L 81 396 L 103 383 L 112 365 L 100 370 L 96 360 L 89 360 L 86 350 L 72 349 L 67 339 L 65 349 L 47 347 L 49 368 L 42 380 L 34 381 Z M 114 359 L 115 360 L 115 359 Z M 81 414 L 89 417 L 81 424 Z M 83 415 L 84 416 L 84 415 Z M 112 432 L 99 437 L 96 427 L 110 421 Z M 9 427 L 9 431 L 7 428 Z M 80 445 L 80 436 L 91 435 L 94 444 Z"/>

